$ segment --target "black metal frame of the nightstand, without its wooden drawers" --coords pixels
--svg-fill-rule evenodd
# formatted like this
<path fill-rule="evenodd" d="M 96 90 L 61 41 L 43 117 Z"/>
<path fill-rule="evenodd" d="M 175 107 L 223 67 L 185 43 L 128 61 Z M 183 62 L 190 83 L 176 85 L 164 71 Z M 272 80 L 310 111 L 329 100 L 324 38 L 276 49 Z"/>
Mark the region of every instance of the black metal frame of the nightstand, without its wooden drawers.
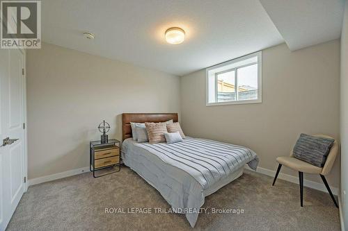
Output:
<path fill-rule="evenodd" d="M 109 174 L 112 174 L 112 173 L 117 173 L 118 171 L 121 170 L 121 158 L 120 158 L 120 144 L 121 142 L 117 139 L 109 139 L 109 141 L 106 143 L 106 144 L 101 144 L 100 143 L 100 140 L 99 141 L 91 141 L 89 146 L 90 146 L 90 164 L 89 164 L 89 170 L 93 172 L 93 177 L 94 178 L 99 178 L 101 176 L 106 176 L 106 175 L 109 175 Z M 108 165 L 108 166 L 102 166 L 102 167 L 99 167 L 99 168 L 95 168 L 95 148 L 98 147 L 103 147 L 103 146 L 116 146 L 118 147 L 118 164 L 111 164 L 111 165 Z M 107 157 L 105 157 L 107 158 Z M 104 158 L 101 158 L 101 159 L 104 159 Z M 100 159 L 98 159 L 100 160 Z M 118 166 L 118 170 L 117 171 L 112 171 L 110 173 L 106 173 L 106 174 L 102 174 L 100 176 L 95 176 L 95 171 L 99 171 L 99 170 L 102 170 L 102 169 L 108 169 L 108 168 L 111 168 L 111 167 L 114 167 L 114 166 Z M 92 169 L 93 168 L 93 169 Z"/>

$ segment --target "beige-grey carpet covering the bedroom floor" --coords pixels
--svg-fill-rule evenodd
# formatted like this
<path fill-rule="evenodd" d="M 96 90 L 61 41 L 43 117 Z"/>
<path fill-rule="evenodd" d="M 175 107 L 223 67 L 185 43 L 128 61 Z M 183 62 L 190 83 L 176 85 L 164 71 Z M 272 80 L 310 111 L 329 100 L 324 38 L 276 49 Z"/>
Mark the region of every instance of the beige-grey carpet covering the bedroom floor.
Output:
<path fill-rule="evenodd" d="M 205 200 L 205 208 L 244 214 L 200 214 L 195 228 L 182 214 L 105 214 L 105 208 L 166 208 L 168 203 L 134 171 L 93 178 L 84 173 L 29 187 L 8 230 L 340 230 L 329 194 L 246 171 Z"/>

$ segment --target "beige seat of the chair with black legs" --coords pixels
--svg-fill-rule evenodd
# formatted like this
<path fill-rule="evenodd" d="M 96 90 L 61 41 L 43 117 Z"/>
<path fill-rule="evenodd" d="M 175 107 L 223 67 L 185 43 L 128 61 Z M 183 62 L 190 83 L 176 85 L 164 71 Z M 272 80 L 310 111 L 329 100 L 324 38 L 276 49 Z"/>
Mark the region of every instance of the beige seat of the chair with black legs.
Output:
<path fill-rule="evenodd" d="M 315 174 L 322 173 L 322 168 L 319 168 L 318 166 L 314 166 L 302 160 L 296 159 L 295 157 L 281 156 L 281 157 L 277 157 L 276 160 L 279 164 L 283 164 L 284 166 L 287 166 L 290 169 L 301 171 L 303 173 L 315 173 Z"/>

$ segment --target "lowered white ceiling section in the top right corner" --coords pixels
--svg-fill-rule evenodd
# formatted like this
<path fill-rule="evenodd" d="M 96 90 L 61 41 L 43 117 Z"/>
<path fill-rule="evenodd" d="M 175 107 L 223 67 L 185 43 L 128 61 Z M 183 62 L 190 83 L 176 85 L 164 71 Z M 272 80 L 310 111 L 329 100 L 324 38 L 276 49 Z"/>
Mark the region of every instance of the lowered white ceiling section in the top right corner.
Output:
<path fill-rule="evenodd" d="M 294 51 L 335 40 L 342 31 L 345 0 L 260 0 Z"/>

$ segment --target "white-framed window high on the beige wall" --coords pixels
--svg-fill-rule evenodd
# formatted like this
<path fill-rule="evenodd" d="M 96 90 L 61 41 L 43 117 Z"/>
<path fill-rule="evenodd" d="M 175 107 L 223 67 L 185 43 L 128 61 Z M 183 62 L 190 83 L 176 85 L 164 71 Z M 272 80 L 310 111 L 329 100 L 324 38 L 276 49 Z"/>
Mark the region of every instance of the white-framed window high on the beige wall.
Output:
<path fill-rule="evenodd" d="M 207 106 L 262 102 L 262 53 L 206 69 Z"/>

